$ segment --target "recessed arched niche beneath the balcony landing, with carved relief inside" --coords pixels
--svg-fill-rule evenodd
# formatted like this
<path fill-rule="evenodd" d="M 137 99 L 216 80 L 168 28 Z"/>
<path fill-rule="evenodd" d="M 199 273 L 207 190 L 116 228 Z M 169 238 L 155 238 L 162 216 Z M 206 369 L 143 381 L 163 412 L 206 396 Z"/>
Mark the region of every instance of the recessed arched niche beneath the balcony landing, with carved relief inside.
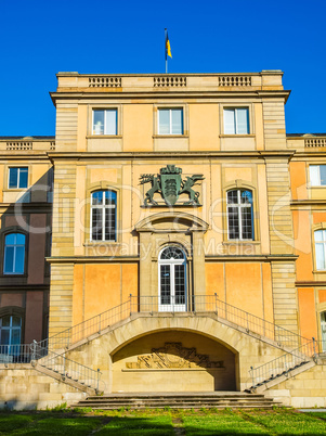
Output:
<path fill-rule="evenodd" d="M 135 338 L 112 356 L 112 390 L 235 390 L 235 371 L 236 355 L 221 343 L 165 330 Z"/>

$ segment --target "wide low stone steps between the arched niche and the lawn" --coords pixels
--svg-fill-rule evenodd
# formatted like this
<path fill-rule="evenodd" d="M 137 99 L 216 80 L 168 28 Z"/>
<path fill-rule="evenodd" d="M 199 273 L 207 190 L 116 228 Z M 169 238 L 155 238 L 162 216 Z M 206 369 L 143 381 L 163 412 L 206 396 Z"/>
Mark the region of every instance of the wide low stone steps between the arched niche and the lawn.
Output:
<path fill-rule="evenodd" d="M 211 393 L 130 393 L 90 396 L 71 405 L 70 408 L 91 408 L 100 410 L 117 409 L 272 409 L 283 406 L 262 394 L 240 392 Z"/>

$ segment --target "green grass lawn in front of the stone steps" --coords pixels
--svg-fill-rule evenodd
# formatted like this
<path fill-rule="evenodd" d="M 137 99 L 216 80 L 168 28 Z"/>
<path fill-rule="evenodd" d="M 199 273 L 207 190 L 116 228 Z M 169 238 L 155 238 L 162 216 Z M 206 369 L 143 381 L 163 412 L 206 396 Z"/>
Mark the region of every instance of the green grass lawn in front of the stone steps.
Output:
<path fill-rule="evenodd" d="M 296 410 L 0 412 L 0 435 L 325 435 L 326 413 Z"/>

